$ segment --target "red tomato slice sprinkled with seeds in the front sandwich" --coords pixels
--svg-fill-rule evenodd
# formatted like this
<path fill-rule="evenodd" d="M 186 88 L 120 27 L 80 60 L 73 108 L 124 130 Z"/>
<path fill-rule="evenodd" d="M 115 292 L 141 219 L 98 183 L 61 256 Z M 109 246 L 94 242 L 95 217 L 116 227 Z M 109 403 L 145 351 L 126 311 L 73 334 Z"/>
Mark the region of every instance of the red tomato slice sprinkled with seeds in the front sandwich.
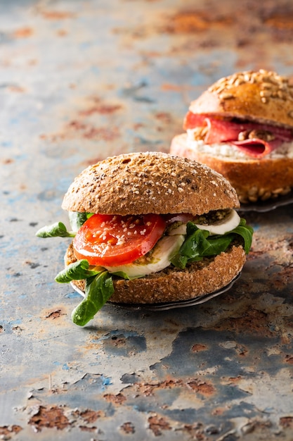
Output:
<path fill-rule="evenodd" d="M 77 259 L 89 261 L 90 265 L 131 263 L 154 247 L 165 227 L 164 218 L 158 214 L 94 214 L 74 237 L 74 254 Z"/>

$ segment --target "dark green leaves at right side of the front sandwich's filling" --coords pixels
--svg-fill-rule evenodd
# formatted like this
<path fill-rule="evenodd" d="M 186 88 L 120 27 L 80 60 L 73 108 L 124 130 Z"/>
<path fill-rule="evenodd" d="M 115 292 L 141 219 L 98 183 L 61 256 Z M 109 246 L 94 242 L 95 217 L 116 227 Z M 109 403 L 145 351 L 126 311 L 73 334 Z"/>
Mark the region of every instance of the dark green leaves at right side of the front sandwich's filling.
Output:
<path fill-rule="evenodd" d="M 248 253 L 252 246 L 252 234 L 252 227 L 246 225 L 245 219 L 241 219 L 240 224 L 226 234 L 211 236 L 207 230 L 200 230 L 194 223 L 188 222 L 185 241 L 178 253 L 172 257 L 171 263 L 183 269 L 187 263 L 200 261 L 208 256 L 216 256 L 226 251 L 237 235 L 244 240 L 244 249 Z"/>

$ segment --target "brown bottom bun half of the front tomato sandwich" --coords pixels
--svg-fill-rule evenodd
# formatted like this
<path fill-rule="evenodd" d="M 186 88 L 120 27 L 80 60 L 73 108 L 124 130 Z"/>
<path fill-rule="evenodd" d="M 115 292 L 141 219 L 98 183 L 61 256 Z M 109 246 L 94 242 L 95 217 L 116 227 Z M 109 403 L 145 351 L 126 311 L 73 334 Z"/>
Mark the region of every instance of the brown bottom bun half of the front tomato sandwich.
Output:
<path fill-rule="evenodd" d="M 184 270 L 169 267 L 144 278 L 133 280 L 113 278 L 115 292 L 110 302 L 159 304 L 195 299 L 228 285 L 240 273 L 245 260 L 246 255 L 242 246 L 233 245 L 219 256 L 204 258 Z M 76 259 L 71 244 L 65 254 L 65 266 L 74 261 Z M 84 280 L 73 282 L 79 290 L 84 291 Z"/>

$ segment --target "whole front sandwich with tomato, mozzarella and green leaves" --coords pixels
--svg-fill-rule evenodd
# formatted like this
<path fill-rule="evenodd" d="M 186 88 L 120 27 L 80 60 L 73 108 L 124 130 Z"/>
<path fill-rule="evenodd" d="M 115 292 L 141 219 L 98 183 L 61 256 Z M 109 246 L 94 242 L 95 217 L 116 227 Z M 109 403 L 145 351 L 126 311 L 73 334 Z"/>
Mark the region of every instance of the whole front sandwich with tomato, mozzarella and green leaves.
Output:
<path fill-rule="evenodd" d="M 68 189 L 64 223 L 39 237 L 73 237 L 57 282 L 84 292 L 72 319 L 85 325 L 105 302 L 164 304 L 228 285 L 242 270 L 252 228 L 230 183 L 207 166 L 164 153 L 114 156 Z"/>

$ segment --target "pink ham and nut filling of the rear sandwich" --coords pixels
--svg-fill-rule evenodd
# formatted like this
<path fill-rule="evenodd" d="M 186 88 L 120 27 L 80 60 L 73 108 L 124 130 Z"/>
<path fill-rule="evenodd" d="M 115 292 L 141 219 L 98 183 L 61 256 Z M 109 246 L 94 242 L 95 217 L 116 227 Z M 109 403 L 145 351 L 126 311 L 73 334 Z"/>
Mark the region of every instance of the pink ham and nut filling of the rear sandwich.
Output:
<path fill-rule="evenodd" d="M 261 159 L 283 144 L 293 142 L 292 129 L 191 111 L 185 116 L 183 128 L 187 130 L 189 139 L 202 139 L 204 144 L 209 145 L 230 144 L 249 159 Z"/>

